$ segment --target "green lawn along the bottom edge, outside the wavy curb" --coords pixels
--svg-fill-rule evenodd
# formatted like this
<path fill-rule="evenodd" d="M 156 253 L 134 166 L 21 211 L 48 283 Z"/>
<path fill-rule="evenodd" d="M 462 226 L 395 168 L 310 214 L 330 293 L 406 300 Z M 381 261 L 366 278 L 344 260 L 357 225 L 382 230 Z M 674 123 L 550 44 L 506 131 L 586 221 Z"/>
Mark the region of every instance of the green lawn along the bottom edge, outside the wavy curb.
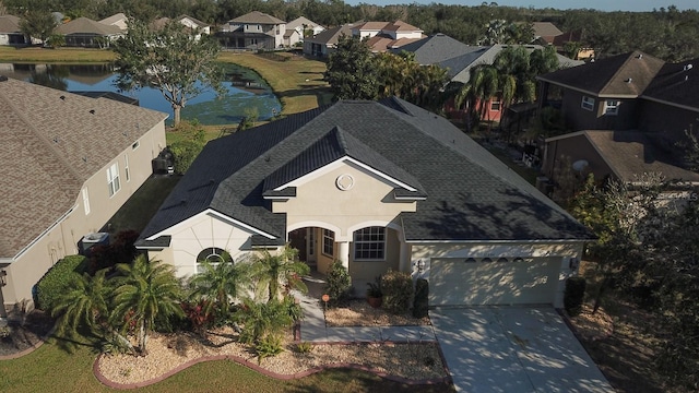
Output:
<path fill-rule="evenodd" d="M 45 344 L 34 353 L 0 361 L 0 392 L 114 392 L 92 372 L 96 354 L 90 346 L 73 353 Z M 336 369 L 303 379 L 282 381 L 264 377 L 228 360 L 196 365 L 165 381 L 137 392 L 453 392 L 451 386 L 410 386 L 372 373 Z"/>

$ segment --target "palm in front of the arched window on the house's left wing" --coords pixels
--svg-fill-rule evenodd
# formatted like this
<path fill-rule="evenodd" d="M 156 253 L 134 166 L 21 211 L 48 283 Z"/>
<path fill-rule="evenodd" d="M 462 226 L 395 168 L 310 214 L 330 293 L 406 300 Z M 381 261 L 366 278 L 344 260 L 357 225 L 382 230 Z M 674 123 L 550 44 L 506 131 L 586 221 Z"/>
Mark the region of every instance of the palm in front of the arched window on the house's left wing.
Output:
<path fill-rule="evenodd" d="M 250 264 L 234 264 L 232 260 L 224 258 L 217 264 L 201 262 L 203 272 L 196 274 L 190 285 L 194 290 L 192 295 L 214 301 L 206 301 L 204 313 L 210 315 L 214 308 L 218 307 L 221 317 L 227 318 L 230 311 L 230 300 L 238 297 L 241 286 L 248 284 L 250 278 Z"/>

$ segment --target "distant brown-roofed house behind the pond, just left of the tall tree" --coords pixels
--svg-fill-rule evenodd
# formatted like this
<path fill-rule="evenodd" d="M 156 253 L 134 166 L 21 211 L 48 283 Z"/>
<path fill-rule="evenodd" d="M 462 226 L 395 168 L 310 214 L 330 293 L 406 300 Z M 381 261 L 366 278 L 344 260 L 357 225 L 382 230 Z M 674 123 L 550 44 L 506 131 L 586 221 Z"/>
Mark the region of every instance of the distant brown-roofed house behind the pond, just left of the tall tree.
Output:
<path fill-rule="evenodd" d="M 66 37 L 66 46 L 84 48 L 109 47 L 110 41 L 123 35 L 123 31 L 116 25 L 106 25 L 84 16 L 59 25 L 55 32 Z"/>

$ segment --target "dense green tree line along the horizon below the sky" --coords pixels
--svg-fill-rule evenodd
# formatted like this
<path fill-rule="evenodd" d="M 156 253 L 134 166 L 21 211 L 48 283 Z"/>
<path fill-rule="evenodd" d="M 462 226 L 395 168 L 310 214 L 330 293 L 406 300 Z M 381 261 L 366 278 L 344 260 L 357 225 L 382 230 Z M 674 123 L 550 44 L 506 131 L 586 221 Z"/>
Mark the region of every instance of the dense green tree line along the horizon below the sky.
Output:
<path fill-rule="evenodd" d="M 602 12 L 589 9 L 476 7 L 431 4 L 350 5 L 342 0 L 1 0 L 5 12 L 24 16 L 28 11 L 60 11 L 69 17 L 100 20 L 118 12 L 142 21 L 188 14 L 212 25 L 260 11 L 292 21 L 298 16 L 324 26 L 357 21 L 403 20 L 425 34 L 443 33 L 465 44 L 482 43 L 493 21 L 552 22 L 562 32 L 580 32 L 580 44 L 597 57 L 642 50 L 666 61 L 699 57 L 699 12 L 676 7 L 651 12 Z"/>

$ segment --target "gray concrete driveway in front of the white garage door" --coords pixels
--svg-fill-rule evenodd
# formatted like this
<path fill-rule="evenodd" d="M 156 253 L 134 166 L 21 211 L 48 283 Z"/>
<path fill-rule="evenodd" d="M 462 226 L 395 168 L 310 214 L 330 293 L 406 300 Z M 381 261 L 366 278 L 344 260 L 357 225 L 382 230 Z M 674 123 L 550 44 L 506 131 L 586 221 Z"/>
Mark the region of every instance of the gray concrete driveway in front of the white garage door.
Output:
<path fill-rule="evenodd" d="M 459 392 L 614 392 L 553 308 L 429 312 Z"/>

